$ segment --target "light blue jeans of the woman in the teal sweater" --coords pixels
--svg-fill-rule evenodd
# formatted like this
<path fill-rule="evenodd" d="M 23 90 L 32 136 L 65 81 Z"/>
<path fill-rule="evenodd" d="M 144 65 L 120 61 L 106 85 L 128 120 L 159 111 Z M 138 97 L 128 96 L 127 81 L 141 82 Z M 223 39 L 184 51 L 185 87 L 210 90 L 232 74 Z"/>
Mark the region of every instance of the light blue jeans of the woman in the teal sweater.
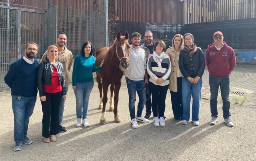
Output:
<path fill-rule="evenodd" d="M 94 81 L 76 83 L 76 118 L 87 119 L 89 109 L 89 97 L 94 86 Z M 83 112 L 82 112 L 83 109 Z M 82 117 L 83 114 L 83 117 Z"/>

